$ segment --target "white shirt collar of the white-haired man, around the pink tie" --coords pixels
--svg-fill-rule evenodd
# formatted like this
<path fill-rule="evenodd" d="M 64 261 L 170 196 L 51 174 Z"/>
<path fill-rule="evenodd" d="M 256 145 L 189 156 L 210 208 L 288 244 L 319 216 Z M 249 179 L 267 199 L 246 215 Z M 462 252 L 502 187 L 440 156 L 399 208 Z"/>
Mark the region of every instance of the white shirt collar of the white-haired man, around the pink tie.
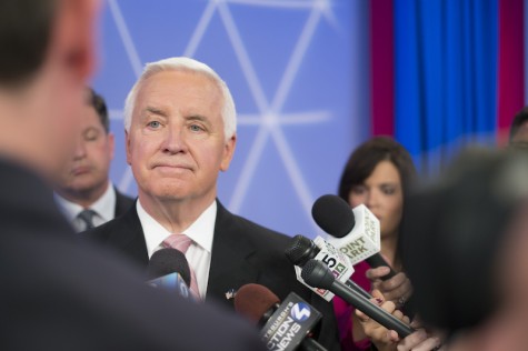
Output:
<path fill-rule="evenodd" d="M 136 203 L 139 221 L 143 229 L 145 242 L 147 243 L 147 251 L 149 257 L 159 248 L 161 242 L 170 234 L 163 225 L 156 221 L 141 205 L 141 201 Z M 183 231 L 193 242 L 200 245 L 203 250 L 211 253 L 212 239 L 215 235 L 215 222 L 217 220 L 217 201 L 212 203 L 203 211 L 200 217 Z"/>

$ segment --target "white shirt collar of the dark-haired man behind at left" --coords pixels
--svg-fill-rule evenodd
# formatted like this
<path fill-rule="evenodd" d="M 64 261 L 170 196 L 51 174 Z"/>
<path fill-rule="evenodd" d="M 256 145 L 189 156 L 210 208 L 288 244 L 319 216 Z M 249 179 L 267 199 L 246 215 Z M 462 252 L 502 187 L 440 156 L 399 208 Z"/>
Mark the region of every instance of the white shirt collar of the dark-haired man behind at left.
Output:
<path fill-rule="evenodd" d="M 59 203 L 59 207 L 62 209 L 62 212 L 70 221 L 77 218 L 77 215 L 84 210 L 82 205 L 62 198 L 57 192 L 54 193 L 54 198 Z M 104 221 L 113 219 L 116 215 L 116 191 L 110 183 L 108 183 L 104 193 L 93 202 L 89 209 L 96 211 Z"/>

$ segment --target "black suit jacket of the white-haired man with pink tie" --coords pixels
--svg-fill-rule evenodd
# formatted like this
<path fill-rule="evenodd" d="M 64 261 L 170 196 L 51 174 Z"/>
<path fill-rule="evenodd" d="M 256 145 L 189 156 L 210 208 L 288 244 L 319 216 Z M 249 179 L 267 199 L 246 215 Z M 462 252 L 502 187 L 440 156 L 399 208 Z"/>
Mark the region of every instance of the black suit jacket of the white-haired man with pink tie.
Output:
<path fill-rule="evenodd" d="M 293 291 L 323 313 L 318 341 L 328 350 L 340 350 L 332 304 L 297 281 L 293 265 L 283 253 L 291 238 L 233 215 L 217 202 L 207 301 L 231 307 L 226 292 L 247 283 L 262 284 L 281 300 Z M 143 269 L 148 265 L 147 244 L 136 207 L 81 237 L 113 248 Z"/>

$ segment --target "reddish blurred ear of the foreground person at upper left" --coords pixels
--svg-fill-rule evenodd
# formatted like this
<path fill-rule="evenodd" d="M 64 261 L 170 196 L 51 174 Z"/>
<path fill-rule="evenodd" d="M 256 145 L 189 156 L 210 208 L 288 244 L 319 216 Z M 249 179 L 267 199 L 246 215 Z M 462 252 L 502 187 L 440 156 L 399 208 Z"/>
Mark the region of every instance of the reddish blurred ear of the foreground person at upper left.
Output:
<path fill-rule="evenodd" d="M 84 82 L 96 66 L 96 19 L 99 0 L 59 0 L 52 30 L 51 52 Z"/>

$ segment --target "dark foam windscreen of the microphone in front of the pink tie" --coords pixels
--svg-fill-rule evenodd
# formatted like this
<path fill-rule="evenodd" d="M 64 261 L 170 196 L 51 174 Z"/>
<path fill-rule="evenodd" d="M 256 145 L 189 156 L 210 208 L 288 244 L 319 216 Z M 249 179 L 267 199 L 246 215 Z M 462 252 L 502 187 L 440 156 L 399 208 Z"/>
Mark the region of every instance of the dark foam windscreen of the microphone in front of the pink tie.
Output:
<path fill-rule="evenodd" d="M 148 279 L 179 273 L 186 284 L 190 287 L 191 273 L 186 255 L 176 249 L 165 248 L 156 251 L 150 258 L 147 269 Z"/>

